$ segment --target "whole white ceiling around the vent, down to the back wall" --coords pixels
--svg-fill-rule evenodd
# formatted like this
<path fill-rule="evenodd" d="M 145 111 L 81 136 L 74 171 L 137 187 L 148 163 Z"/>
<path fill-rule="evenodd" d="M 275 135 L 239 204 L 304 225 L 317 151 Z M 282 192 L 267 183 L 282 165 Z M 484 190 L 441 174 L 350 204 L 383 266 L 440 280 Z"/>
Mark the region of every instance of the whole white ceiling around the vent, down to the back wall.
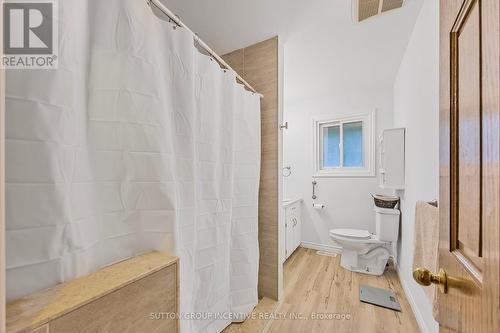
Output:
<path fill-rule="evenodd" d="M 392 87 L 422 5 L 406 0 L 355 23 L 351 0 L 162 1 L 221 55 L 279 35 L 294 98 L 328 95 L 335 86 Z"/>

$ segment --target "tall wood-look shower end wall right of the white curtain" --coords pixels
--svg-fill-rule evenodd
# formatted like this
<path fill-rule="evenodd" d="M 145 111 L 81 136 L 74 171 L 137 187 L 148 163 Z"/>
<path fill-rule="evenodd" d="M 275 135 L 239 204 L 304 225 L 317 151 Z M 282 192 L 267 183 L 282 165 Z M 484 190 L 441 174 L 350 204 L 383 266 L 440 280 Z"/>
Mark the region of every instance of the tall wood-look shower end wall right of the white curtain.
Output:
<path fill-rule="evenodd" d="M 262 162 L 259 191 L 259 297 L 278 299 L 278 37 L 223 55 L 259 93 Z"/>

